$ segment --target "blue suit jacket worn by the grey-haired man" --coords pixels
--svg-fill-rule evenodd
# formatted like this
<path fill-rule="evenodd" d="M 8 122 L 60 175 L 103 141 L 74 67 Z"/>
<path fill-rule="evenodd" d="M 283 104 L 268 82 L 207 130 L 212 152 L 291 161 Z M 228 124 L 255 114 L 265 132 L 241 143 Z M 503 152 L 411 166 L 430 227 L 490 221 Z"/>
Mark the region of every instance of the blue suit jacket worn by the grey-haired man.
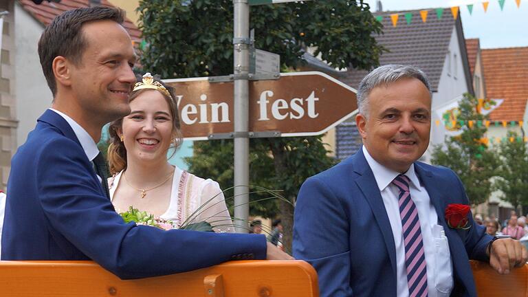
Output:
<path fill-rule="evenodd" d="M 439 224 L 448 237 L 454 274 L 452 295 L 476 296 L 469 259 L 489 261 L 492 239 L 470 221 L 469 230 L 448 228 L 450 203 L 467 204 L 459 178 L 448 168 L 415 163 Z M 294 214 L 294 257 L 319 276 L 322 297 L 396 296 L 396 252 L 380 189 L 362 150 L 314 177 L 300 189 Z"/>

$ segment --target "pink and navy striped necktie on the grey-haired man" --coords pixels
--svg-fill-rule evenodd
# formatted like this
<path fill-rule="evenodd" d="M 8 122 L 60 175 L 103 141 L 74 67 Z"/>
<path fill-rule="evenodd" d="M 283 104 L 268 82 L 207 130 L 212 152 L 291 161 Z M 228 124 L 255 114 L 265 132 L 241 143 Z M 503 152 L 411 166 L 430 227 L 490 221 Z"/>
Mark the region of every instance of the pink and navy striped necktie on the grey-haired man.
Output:
<path fill-rule="evenodd" d="M 420 220 L 415 203 L 410 199 L 409 178 L 398 175 L 393 184 L 398 187 L 401 232 L 404 234 L 405 267 L 409 296 L 428 296 L 426 256 L 423 254 Z"/>

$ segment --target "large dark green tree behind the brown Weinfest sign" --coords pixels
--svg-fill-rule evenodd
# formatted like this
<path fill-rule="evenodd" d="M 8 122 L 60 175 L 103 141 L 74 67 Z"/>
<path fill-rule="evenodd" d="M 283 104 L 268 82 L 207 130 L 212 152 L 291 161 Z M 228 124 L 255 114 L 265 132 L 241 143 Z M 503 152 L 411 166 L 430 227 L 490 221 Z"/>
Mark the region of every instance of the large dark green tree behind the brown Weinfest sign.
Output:
<path fill-rule="evenodd" d="M 232 0 L 143 0 L 138 11 L 145 69 L 164 78 L 233 72 Z M 306 46 L 316 47 L 316 55 L 339 68 L 368 69 L 377 65 L 384 50 L 373 37 L 381 33 L 381 25 L 362 0 L 256 5 L 250 11 L 250 28 L 255 30 L 255 47 L 280 54 L 283 69 L 302 65 Z M 291 202 L 307 177 L 333 164 L 320 137 L 252 140 L 251 149 L 250 182 L 281 189 Z M 218 179 L 224 188 L 232 186 L 231 142 L 195 142 L 195 155 L 188 162 L 198 175 Z M 275 208 L 261 206 L 252 206 L 252 212 L 266 217 L 280 212 L 289 248 L 292 206 L 284 201 Z"/>

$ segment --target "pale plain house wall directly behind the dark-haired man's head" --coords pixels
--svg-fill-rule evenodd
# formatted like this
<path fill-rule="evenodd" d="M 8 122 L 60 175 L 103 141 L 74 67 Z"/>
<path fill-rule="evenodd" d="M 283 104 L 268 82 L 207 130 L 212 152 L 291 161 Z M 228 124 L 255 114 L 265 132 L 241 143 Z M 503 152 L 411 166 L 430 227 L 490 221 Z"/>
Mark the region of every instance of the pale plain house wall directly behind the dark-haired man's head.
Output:
<path fill-rule="evenodd" d="M 36 124 L 36 119 L 52 104 L 53 96 L 47 87 L 42 73 L 37 43 L 44 30 L 43 25 L 36 21 L 18 3 L 14 5 L 17 19 L 14 30 L 17 32 L 17 52 L 15 63 L 17 67 L 17 146 L 21 146 Z"/>

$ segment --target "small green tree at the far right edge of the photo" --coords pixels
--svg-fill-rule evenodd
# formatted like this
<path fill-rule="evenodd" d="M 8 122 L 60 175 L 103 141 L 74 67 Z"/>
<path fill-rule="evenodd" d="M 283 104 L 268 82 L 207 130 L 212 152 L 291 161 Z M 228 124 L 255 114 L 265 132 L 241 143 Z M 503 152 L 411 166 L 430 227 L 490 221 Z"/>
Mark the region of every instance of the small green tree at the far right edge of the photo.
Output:
<path fill-rule="evenodd" d="M 528 206 L 528 151 L 522 137 L 514 131 L 509 131 L 507 141 L 499 146 L 500 166 L 494 186 L 503 192 L 504 201 L 514 208 Z M 523 212 L 524 213 L 524 212 Z"/>

